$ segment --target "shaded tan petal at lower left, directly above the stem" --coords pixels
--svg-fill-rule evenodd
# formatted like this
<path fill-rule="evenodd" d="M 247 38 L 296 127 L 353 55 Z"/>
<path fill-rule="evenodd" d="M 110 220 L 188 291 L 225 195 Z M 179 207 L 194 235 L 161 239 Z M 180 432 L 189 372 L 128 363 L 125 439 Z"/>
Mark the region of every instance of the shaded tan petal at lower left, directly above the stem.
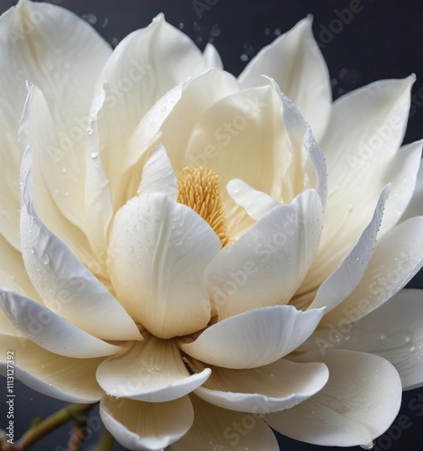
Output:
<path fill-rule="evenodd" d="M 34 327 L 42 327 L 41 319 Z M 62 357 L 28 339 L 0 336 L 2 375 L 6 375 L 6 353 L 11 349 L 14 350 L 15 376 L 33 390 L 69 402 L 100 400 L 103 391 L 96 381 L 96 369 L 103 359 Z"/>

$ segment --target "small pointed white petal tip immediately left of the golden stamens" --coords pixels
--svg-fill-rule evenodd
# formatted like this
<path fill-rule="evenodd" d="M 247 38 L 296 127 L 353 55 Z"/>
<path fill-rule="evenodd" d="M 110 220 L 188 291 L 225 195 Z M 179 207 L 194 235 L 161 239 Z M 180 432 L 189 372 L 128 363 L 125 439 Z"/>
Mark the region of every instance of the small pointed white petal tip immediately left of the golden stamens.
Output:
<path fill-rule="evenodd" d="M 145 163 L 137 194 L 157 192 L 166 194 L 174 201 L 178 198 L 178 180 L 162 145 L 154 149 Z"/>

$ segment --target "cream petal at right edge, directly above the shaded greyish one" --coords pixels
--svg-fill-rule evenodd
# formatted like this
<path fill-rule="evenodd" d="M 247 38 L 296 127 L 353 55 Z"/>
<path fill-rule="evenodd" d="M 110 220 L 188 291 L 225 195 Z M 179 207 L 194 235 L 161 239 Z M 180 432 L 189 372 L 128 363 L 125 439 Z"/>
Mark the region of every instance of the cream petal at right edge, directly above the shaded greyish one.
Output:
<path fill-rule="evenodd" d="M 423 216 L 412 217 L 383 235 L 360 283 L 319 326 L 356 321 L 403 288 L 423 264 L 422 227 Z"/>

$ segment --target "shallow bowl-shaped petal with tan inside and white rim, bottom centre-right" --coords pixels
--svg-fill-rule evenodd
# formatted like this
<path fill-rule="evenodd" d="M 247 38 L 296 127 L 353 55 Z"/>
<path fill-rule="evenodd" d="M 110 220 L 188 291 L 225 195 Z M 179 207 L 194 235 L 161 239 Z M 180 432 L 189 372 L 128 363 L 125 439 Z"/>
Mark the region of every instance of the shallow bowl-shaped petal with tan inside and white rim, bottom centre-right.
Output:
<path fill-rule="evenodd" d="M 252 370 L 212 367 L 195 393 L 218 407 L 238 412 L 271 413 L 290 409 L 326 384 L 325 364 L 296 364 L 280 359 Z"/>

